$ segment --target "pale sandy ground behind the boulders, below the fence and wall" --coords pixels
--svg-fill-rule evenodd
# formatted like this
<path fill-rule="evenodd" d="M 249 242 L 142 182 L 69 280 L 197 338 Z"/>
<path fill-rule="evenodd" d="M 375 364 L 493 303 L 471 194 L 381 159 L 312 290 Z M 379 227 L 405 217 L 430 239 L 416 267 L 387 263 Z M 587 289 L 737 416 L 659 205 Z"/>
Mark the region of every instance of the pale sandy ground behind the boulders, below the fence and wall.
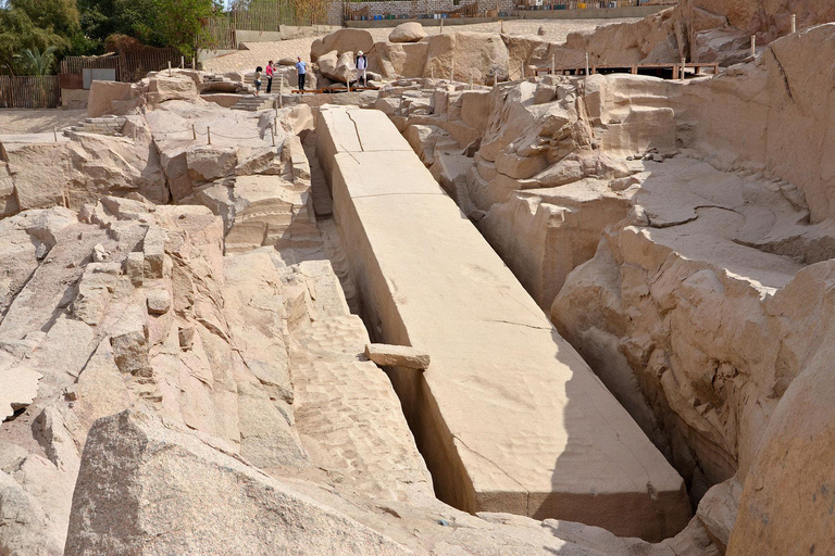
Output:
<path fill-rule="evenodd" d="M 597 27 L 605 25 L 613 25 L 616 23 L 631 23 L 639 21 L 639 18 L 623 18 L 623 20 L 513 20 L 504 22 L 504 33 L 515 36 L 536 36 L 539 28 L 545 30 L 543 39 L 552 42 L 564 42 L 569 33 L 575 30 L 594 30 Z M 472 25 L 456 25 L 447 26 L 445 30 L 448 33 L 450 29 L 479 31 L 479 33 L 498 33 L 501 24 L 494 23 L 476 23 Z M 424 27 L 428 35 L 436 35 L 440 33 L 440 27 Z M 381 29 L 367 29 L 374 40 L 385 40 L 388 38 L 388 34 L 391 33 L 391 28 Z M 208 72 L 224 73 L 224 72 L 252 72 L 256 66 L 263 66 L 269 60 L 281 60 L 283 58 L 302 56 L 304 60 L 310 59 L 310 45 L 313 42 L 314 37 L 307 37 L 302 39 L 282 40 L 278 42 L 248 42 L 246 47 L 249 50 L 240 50 L 230 54 L 225 54 L 212 60 L 203 62 L 203 70 Z"/>

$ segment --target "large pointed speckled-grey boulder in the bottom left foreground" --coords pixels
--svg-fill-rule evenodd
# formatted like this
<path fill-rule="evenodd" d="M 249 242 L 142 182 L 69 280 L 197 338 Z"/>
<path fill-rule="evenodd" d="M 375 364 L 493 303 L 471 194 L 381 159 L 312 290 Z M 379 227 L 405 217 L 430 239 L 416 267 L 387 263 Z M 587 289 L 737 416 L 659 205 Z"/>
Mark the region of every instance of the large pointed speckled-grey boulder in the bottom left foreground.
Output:
<path fill-rule="evenodd" d="M 409 554 L 208 437 L 132 412 L 90 429 L 64 554 L 114 553 Z"/>

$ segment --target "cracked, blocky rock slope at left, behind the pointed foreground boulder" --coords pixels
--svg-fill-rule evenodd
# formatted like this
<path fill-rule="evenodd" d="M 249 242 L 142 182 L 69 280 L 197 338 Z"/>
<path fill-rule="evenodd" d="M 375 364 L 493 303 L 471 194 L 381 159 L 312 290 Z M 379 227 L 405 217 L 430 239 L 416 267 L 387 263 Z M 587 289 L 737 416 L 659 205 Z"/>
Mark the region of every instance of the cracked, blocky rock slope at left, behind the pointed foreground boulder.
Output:
<path fill-rule="evenodd" d="M 15 457 L 35 466 L 25 475 L 14 472 L 20 464 L 2 466 L 32 508 L 20 507 L 29 516 L 20 522 L 63 545 L 87 428 L 125 408 L 157 412 L 265 467 L 303 465 L 307 455 L 290 428 L 284 305 L 281 298 L 258 305 L 224 298 L 224 273 L 233 267 L 224 269 L 221 219 L 205 207 L 120 198 L 85 208 L 89 224 L 72 213 L 61 219 L 62 212 L 68 213 L 53 208 L 33 218 L 26 212 L 2 223 L 11 232 L 27 230 L 33 265 L 25 282 L 10 282 L 0 374 L 41 377 L 32 384 L 34 400 L 11 400 L 13 409 L 28 403 L 23 416 L 2 425 Z M 5 238 L 2 244 L 15 244 Z M 240 261 L 244 278 L 229 275 L 235 291 L 281 282 L 269 258 L 266 267 L 253 262 Z M 259 329 L 265 319 L 272 328 Z M 15 546 L 27 534 L 23 527 L 3 542 Z"/>

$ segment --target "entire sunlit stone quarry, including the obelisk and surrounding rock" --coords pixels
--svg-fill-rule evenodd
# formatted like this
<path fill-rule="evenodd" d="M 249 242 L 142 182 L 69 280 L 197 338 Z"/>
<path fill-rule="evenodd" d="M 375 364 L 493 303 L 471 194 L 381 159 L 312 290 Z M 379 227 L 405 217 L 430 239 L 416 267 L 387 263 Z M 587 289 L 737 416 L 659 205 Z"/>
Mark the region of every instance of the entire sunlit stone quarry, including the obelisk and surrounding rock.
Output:
<path fill-rule="evenodd" d="M 835 26 L 726 3 L 709 79 L 434 78 L 676 62 L 683 0 L 311 38 L 390 63 L 358 108 L 170 71 L 0 137 L 0 553 L 828 554 Z"/>

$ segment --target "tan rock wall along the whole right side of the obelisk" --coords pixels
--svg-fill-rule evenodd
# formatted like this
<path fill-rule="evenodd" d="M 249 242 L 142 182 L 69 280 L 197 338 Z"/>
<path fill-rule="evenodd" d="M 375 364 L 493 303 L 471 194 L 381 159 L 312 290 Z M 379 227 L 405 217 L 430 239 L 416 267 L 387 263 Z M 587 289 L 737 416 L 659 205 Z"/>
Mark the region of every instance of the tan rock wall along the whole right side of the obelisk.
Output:
<path fill-rule="evenodd" d="M 722 23 L 697 14 L 700 28 Z M 808 450 L 814 462 L 827 445 L 823 428 L 787 416 L 827 395 L 824 386 L 813 400 L 811 380 L 802 404 L 789 393 L 814 372 L 813 339 L 831 320 L 821 134 L 832 118 L 813 91 L 832 84 L 801 52 L 827 51 L 832 35 L 832 25 L 801 30 L 753 63 L 687 84 L 593 76 L 499 86 L 485 96 L 486 117 L 468 124 L 482 129 L 473 143 L 459 140 L 463 87 L 401 80 L 376 104 L 683 473 L 700 501 L 699 527 L 733 554 L 790 552 L 776 523 L 792 511 L 810 518 L 795 529 L 805 551 L 831 536 L 814 505 L 825 481 L 797 479 L 785 453 L 803 434 L 789 452 Z M 511 67 L 514 56 L 546 60 L 534 42 L 509 41 Z M 807 85 L 813 91 L 801 92 Z M 780 489 L 812 505 L 801 509 Z"/>

